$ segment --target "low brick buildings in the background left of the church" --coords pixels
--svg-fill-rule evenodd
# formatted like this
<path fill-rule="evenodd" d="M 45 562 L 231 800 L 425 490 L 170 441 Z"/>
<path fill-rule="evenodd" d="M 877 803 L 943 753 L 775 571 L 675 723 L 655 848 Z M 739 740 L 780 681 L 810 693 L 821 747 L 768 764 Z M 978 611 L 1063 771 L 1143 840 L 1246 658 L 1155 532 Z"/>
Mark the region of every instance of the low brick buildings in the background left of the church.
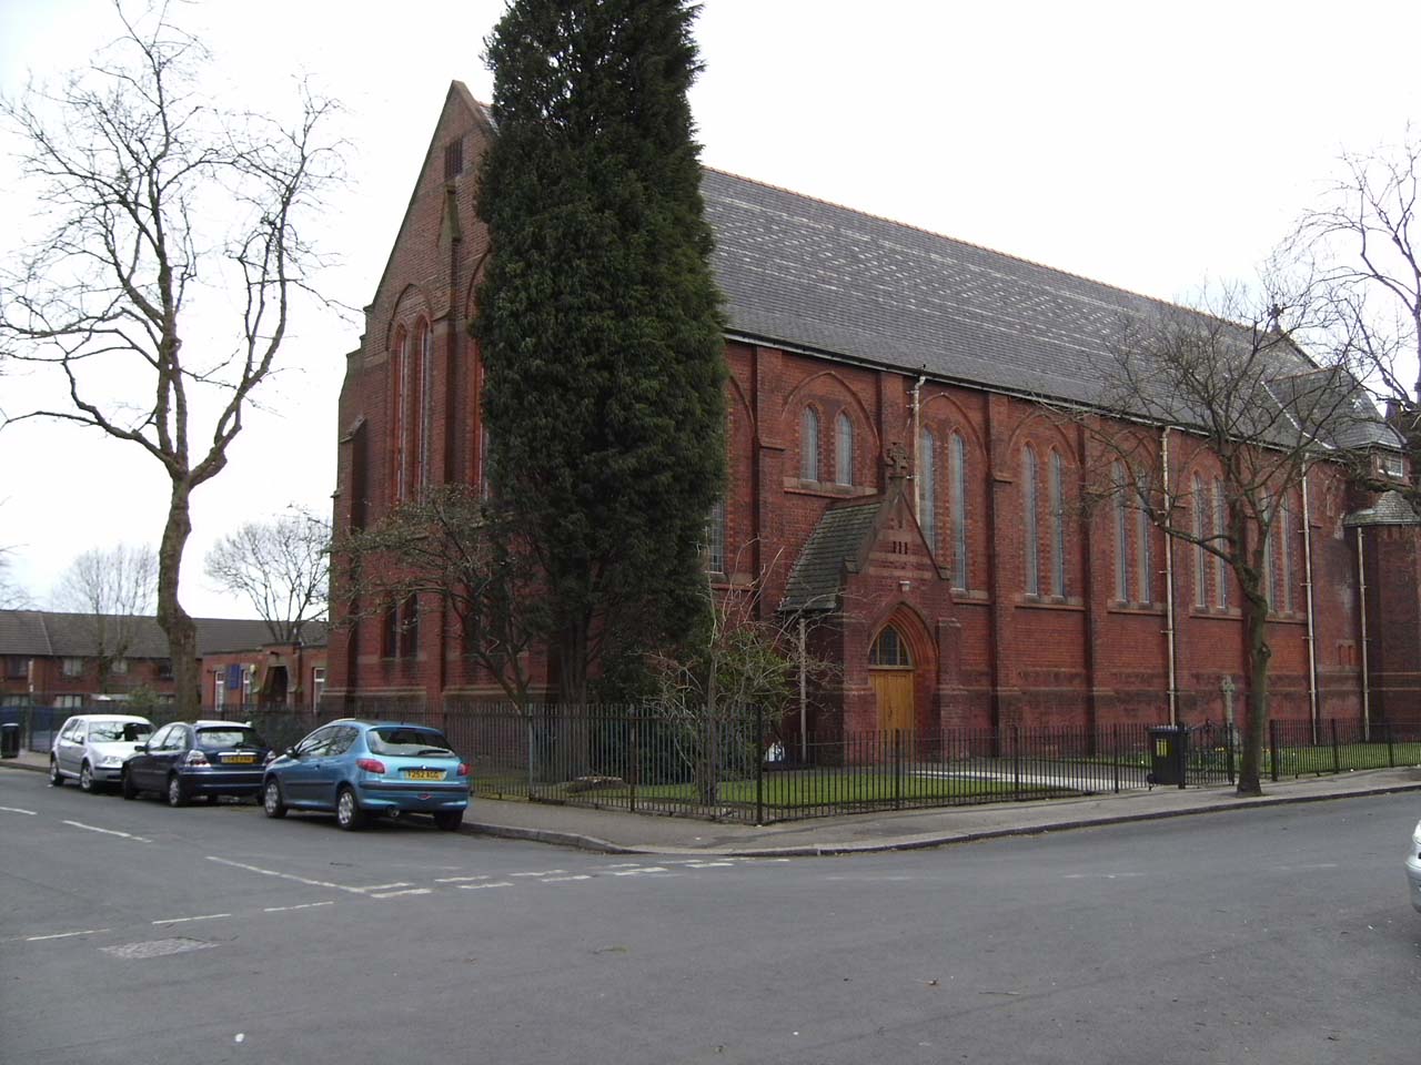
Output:
<path fill-rule="evenodd" d="M 293 645 L 274 643 L 261 621 L 193 622 L 203 706 L 300 707 L 320 700 L 324 623 L 307 623 L 303 642 Z M 77 709 L 139 693 L 159 701 L 173 697 L 168 638 L 156 618 L 0 611 L 0 706 Z"/>

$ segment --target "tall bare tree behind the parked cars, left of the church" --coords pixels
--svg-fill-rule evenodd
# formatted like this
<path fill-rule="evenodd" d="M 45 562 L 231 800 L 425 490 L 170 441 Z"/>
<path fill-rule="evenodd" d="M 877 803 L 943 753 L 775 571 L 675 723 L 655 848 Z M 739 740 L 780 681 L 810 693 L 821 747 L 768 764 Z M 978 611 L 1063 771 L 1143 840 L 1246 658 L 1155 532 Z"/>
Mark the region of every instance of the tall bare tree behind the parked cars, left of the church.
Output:
<path fill-rule="evenodd" d="M 303 91 L 288 126 L 225 109 L 200 94 L 206 50 L 166 6 L 144 20 L 115 9 L 124 33 L 94 65 L 54 95 L 0 104 L 53 219 L 0 278 L 0 358 L 51 375 L 63 396 L 0 427 L 72 422 L 162 467 L 158 621 L 179 707 L 192 710 L 196 635 L 178 598 L 192 493 L 226 466 L 310 291 L 318 261 L 298 222 L 337 178 L 338 153 L 317 139 L 328 101 Z M 203 305 L 203 290 L 219 295 Z M 223 327 L 216 312 L 232 302 Z M 232 341 L 213 341 L 225 328 Z"/>

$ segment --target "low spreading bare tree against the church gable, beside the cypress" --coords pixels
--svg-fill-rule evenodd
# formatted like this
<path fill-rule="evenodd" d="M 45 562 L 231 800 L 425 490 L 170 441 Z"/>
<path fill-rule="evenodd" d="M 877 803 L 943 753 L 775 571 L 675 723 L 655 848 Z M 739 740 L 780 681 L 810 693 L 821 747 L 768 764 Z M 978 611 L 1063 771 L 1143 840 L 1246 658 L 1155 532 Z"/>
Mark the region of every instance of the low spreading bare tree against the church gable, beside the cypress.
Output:
<path fill-rule="evenodd" d="M 529 652 L 547 638 L 546 596 L 509 514 L 462 484 L 429 486 L 368 528 L 337 538 L 333 596 L 351 622 L 375 622 L 398 645 L 421 601 L 459 619 L 465 655 L 520 711 L 533 683 Z"/>

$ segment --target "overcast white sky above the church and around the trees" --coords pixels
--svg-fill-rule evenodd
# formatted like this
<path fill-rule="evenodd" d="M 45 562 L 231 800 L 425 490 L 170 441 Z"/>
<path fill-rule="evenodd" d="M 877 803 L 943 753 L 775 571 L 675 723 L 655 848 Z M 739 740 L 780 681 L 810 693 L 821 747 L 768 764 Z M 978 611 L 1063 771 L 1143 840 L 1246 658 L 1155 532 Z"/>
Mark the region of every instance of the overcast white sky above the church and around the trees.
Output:
<path fill-rule="evenodd" d="M 487 99 L 502 0 L 175 4 L 257 109 L 297 71 L 340 98 L 354 183 L 320 237 L 327 294 L 374 297 L 449 81 Z M 0 0 L 0 92 L 57 78 L 117 36 L 105 0 Z M 705 0 L 692 94 L 703 160 L 1150 295 L 1250 277 L 1336 173 L 1421 121 L 1414 0 L 1192 4 Z M 13 142 L 0 136 L 0 152 Z M 33 214 L 0 159 L 0 254 Z M 250 616 L 206 586 L 207 547 L 291 503 L 328 513 L 335 400 L 360 327 L 294 324 L 283 378 L 195 497 L 183 604 Z M 28 383 L 0 378 L 14 413 Z M 155 463 L 71 426 L 0 433 L 0 545 L 40 605 L 78 552 L 156 544 Z"/>

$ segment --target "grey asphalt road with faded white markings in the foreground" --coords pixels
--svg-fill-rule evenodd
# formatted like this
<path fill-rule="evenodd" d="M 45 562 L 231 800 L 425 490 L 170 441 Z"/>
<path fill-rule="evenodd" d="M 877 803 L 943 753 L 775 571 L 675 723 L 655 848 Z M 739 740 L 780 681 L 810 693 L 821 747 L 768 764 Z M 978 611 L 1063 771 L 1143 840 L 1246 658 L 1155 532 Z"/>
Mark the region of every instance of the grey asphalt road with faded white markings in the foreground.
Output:
<path fill-rule="evenodd" d="M 1414 795 L 837 859 L 0 772 L 0 1062 L 1407 1062 Z"/>

